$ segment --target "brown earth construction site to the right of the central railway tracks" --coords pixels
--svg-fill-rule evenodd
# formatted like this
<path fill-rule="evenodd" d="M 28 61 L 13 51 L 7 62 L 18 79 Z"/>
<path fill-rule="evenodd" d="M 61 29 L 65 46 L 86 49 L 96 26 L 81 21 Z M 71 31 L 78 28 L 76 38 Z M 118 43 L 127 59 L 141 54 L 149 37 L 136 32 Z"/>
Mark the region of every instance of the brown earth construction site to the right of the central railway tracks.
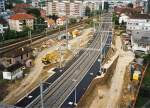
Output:
<path fill-rule="evenodd" d="M 140 74 L 131 73 L 130 67 L 137 58 L 122 46 L 121 36 L 114 32 L 113 45 L 103 61 L 104 74 L 92 81 L 77 108 L 138 108 L 135 104 L 148 65 L 142 64 Z"/>

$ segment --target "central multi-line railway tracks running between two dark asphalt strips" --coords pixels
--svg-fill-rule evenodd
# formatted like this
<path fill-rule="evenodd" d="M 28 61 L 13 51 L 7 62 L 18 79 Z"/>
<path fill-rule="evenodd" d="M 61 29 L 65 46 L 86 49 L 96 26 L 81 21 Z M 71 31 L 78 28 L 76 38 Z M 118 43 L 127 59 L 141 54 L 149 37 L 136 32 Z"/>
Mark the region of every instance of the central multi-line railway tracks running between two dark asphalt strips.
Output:
<path fill-rule="evenodd" d="M 105 18 L 106 17 L 106 18 Z M 97 31 L 94 41 L 89 46 L 92 49 L 100 49 L 101 37 L 103 46 L 106 44 L 108 37 L 108 30 L 110 29 L 111 18 L 104 16 L 102 24 L 102 29 Z M 107 31 L 107 32 L 103 32 Z M 56 81 L 54 81 L 48 89 L 43 93 L 44 106 L 50 108 L 59 108 L 67 99 L 67 97 L 72 93 L 75 87 L 84 78 L 86 73 L 92 67 L 98 56 L 99 51 L 86 50 Z M 32 101 L 27 108 L 40 108 L 40 96 L 38 96 L 34 101 Z"/>

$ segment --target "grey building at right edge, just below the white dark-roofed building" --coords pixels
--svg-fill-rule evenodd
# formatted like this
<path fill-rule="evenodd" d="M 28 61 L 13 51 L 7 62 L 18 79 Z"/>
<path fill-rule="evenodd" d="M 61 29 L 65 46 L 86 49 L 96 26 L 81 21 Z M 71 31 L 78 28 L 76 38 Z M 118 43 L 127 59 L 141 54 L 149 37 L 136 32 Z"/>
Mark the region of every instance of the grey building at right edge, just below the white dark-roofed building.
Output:
<path fill-rule="evenodd" d="M 131 45 L 134 52 L 150 53 L 150 31 L 135 30 L 131 33 Z"/>

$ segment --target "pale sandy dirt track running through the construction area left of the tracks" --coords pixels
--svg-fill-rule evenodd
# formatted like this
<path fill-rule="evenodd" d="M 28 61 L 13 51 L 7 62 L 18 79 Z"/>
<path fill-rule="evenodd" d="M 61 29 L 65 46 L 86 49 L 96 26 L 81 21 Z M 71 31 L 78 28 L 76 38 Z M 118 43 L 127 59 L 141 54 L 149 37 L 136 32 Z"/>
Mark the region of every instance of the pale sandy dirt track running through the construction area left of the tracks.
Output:
<path fill-rule="evenodd" d="M 73 47 L 77 47 L 79 40 L 81 41 L 80 45 L 85 46 L 85 44 L 89 40 L 88 34 L 91 32 L 91 28 L 85 29 L 81 36 L 69 41 L 69 44 Z M 6 98 L 3 100 L 3 103 L 7 104 L 14 104 L 19 99 L 21 99 L 23 96 L 25 96 L 28 92 L 30 92 L 33 88 L 35 88 L 39 83 L 40 79 L 46 78 L 43 75 L 43 67 L 44 64 L 41 62 L 41 58 L 46 55 L 48 52 L 52 52 L 59 48 L 59 43 L 57 45 L 53 45 L 47 49 L 42 50 L 38 53 L 34 63 L 35 66 L 31 68 L 30 73 L 28 76 L 26 76 L 17 87 L 13 87 L 13 90 L 10 91 L 10 93 L 6 96 Z M 70 55 L 71 56 L 71 55 Z M 68 57 L 71 58 L 71 57 Z M 54 67 L 52 67 L 54 68 Z M 53 75 L 53 72 L 47 72 L 48 76 Z"/>

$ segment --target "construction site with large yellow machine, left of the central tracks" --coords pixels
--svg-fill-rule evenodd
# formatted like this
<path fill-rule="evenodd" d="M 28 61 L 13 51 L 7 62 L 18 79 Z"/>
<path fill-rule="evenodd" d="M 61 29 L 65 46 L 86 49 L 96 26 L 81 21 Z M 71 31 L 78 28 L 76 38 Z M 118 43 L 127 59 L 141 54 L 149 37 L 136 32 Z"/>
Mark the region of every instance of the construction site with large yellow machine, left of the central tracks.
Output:
<path fill-rule="evenodd" d="M 8 86 L 8 95 L 3 102 L 11 105 L 27 96 L 40 81 L 45 81 L 55 74 L 52 71 L 54 68 L 64 67 L 80 49 L 87 47 L 89 40 L 92 39 L 92 34 L 92 28 L 81 26 L 78 30 L 70 30 L 68 36 L 59 35 L 56 39 L 41 39 L 32 43 L 35 56 L 32 62 L 33 67 L 25 70 L 27 72 L 23 80 L 15 80 L 15 83 Z"/>

